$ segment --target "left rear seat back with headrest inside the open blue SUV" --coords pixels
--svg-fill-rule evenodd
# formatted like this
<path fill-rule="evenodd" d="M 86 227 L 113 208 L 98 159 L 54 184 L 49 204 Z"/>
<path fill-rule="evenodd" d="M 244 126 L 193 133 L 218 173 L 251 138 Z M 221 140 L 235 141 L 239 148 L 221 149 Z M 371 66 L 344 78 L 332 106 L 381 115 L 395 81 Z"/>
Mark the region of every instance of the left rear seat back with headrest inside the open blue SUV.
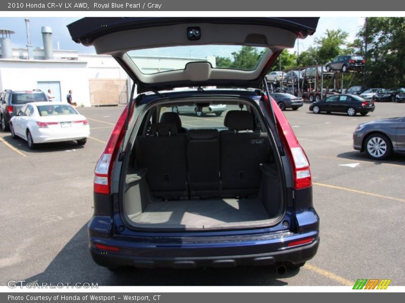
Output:
<path fill-rule="evenodd" d="M 151 193 L 163 199 L 188 197 L 186 136 L 174 123 L 151 125 L 136 141 L 137 166 L 147 168 Z"/>

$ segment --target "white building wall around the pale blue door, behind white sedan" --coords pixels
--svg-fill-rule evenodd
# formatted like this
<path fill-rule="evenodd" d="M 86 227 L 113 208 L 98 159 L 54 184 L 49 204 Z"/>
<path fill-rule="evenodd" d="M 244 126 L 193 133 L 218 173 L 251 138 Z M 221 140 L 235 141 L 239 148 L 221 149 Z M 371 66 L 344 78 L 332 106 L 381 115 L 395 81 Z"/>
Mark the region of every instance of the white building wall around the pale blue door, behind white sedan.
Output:
<path fill-rule="evenodd" d="M 77 105 L 90 106 L 89 78 L 86 62 L 45 60 L 0 60 L 0 90 L 35 89 L 38 81 L 58 81 L 62 102 L 72 90 Z"/>

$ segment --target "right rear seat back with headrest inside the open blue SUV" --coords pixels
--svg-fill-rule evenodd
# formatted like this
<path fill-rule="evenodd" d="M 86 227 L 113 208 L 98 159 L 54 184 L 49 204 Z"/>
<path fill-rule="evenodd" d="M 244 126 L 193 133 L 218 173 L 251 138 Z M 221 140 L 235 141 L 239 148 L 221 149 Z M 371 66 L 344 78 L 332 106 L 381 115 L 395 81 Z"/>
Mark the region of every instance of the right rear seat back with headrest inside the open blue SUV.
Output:
<path fill-rule="evenodd" d="M 229 111 L 224 121 L 228 130 L 220 132 L 223 196 L 256 195 L 260 164 L 270 160 L 267 134 L 252 131 L 254 119 L 248 111 Z"/>

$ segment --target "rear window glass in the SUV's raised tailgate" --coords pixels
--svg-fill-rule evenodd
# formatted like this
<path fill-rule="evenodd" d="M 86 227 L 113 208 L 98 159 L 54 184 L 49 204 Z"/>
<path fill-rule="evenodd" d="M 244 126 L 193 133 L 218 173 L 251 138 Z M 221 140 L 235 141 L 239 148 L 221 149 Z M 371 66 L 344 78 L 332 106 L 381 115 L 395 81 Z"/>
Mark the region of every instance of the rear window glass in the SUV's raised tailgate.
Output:
<path fill-rule="evenodd" d="M 209 62 L 213 68 L 251 71 L 256 69 L 267 49 L 238 45 L 194 45 L 137 49 L 127 54 L 143 74 L 182 70 L 190 62 Z"/>

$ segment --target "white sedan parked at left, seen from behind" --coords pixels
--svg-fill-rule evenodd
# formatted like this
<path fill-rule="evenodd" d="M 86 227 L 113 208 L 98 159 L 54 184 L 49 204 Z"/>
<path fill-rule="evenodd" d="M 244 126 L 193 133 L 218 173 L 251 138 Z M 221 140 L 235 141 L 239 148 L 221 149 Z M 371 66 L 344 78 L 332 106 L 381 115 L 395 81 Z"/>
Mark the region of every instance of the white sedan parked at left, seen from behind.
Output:
<path fill-rule="evenodd" d="M 10 120 L 11 136 L 27 140 L 33 149 L 37 143 L 76 140 L 86 144 L 90 136 L 87 119 L 72 106 L 60 102 L 28 103 Z"/>

